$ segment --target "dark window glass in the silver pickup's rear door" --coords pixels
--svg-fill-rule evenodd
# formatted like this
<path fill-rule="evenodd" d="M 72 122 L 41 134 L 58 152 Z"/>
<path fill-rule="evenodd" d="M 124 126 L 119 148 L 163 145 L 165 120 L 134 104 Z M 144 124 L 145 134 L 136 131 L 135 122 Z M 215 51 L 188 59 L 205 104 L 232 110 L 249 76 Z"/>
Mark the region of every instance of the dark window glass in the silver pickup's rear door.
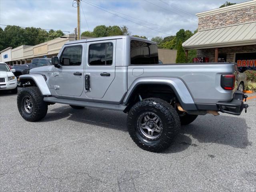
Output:
<path fill-rule="evenodd" d="M 100 43 L 89 46 L 89 64 L 90 65 L 112 65 L 113 62 L 113 44 Z"/>

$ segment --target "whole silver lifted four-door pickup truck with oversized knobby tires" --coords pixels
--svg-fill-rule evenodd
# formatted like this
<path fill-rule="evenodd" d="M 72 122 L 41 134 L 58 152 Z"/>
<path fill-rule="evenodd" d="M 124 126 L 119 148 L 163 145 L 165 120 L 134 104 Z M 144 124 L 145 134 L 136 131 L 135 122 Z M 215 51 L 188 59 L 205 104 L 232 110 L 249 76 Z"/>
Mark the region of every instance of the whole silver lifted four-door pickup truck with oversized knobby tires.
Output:
<path fill-rule="evenodd" d="M 131 138 L 152 152 L 168 148 L 198 115 L 240 115 L 248 107 L 236 91 L 235 63 L 158 64 L 156 43 L 132 36 L 68 42 L 52 64 L 20 76 L 25 120 L 44 118 L 54 103 L 123 111 Z"/>

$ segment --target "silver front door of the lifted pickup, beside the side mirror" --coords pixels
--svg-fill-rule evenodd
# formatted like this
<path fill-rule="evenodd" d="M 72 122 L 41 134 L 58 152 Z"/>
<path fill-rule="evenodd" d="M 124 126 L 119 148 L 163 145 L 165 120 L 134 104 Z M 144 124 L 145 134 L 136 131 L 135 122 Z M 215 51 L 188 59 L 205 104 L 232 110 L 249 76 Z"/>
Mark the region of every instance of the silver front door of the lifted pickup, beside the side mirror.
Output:
<path fill-rule="evenodd" d="M 54 89 L 57 95 L 81 96 L 84 90 L 85 43 L 66 45 L 60 54 L 60 68 L 55 68 Z"/>

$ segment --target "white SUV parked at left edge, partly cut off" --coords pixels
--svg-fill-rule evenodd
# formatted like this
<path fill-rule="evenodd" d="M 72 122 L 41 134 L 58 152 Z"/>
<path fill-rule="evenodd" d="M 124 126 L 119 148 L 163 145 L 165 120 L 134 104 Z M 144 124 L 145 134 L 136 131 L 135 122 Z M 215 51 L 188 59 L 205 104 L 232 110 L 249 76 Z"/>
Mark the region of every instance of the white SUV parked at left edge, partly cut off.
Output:
<path fill-rule="evenodd" d="M 10 90 L 16 94 L 18 92 L 17 78 L 12 72 L 15 72 L 15 69 L 10 70 L 6 63 L 0 62 L 0 90 Z"/>

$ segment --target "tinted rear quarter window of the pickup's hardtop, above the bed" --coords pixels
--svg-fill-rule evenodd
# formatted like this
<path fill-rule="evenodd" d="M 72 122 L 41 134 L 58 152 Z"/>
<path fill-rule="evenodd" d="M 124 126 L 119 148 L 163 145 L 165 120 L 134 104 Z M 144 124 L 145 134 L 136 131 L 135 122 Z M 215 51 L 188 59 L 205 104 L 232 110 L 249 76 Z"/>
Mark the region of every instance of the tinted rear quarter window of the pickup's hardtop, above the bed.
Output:
<path fill-rule="evenodd" d="M 158 48 L 155 44 L 131 40 L 131 64 L 158 64 Z"/>

